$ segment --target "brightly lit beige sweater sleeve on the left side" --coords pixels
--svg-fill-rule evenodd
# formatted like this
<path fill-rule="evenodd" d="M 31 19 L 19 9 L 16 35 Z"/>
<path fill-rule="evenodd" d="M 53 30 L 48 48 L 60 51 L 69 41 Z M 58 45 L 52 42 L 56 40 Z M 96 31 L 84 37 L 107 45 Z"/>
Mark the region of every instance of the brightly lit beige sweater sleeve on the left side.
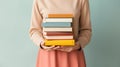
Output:
<path fill-rule="evenodd" d="M 42 35 L 42 16 L 40 14 L 40 10 L 38 7 L 37 0 L 33 1 L 32 7 L 32 16 L 31 16 L 31 23 L 29 28 L 29 36 L 33 43 L 37 46 L 40 46 L 40 43 L 43 41 L 44 37 Z"/>

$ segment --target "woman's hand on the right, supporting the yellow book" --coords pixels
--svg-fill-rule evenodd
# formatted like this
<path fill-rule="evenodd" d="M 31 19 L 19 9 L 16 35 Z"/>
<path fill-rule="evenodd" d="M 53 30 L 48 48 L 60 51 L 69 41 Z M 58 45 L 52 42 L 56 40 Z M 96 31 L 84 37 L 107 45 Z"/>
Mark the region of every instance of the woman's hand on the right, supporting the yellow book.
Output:
<path fill-rule="evenodd" d="M 59 48 L 57 50 L 71 52 L 71 51 L 77 50 L 79 48 L 80 48 L 80 45 L 76 43 L 75 46 L 61 46 L 61 48 Z"/>

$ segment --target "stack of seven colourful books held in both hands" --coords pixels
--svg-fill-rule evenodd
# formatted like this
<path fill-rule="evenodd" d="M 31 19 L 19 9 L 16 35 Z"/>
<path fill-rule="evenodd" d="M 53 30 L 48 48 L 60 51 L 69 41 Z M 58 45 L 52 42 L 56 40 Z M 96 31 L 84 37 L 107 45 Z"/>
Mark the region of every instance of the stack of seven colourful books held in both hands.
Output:
<path fill-rule="evenodd" d="M 72 21 L 72 14 L 48 14 L 42 23 L 45 45 L 74 46 Z"/>

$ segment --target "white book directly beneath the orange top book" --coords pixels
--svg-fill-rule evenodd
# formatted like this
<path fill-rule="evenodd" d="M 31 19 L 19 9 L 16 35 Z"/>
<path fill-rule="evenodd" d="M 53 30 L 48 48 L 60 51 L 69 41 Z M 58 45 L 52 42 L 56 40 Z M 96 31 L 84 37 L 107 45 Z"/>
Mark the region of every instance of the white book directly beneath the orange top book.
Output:
<path fill-rule="evenodd" d="M 46 18 L 43 22 L 72 22 L 72 18 Z"/>

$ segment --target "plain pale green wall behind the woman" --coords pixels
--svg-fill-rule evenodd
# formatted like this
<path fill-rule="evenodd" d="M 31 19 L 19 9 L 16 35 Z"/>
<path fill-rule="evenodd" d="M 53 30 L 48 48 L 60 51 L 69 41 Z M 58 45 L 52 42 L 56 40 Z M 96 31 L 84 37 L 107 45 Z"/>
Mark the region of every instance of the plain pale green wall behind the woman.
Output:
<path fill-rule="evenodd" d="M 38 47 L 29 39 L 32 0 L 0 0 L 0 67 L 35 67 Z M 87 67 L 120 67 L 120 0 L 90 0 L 92 40 Z"/>

